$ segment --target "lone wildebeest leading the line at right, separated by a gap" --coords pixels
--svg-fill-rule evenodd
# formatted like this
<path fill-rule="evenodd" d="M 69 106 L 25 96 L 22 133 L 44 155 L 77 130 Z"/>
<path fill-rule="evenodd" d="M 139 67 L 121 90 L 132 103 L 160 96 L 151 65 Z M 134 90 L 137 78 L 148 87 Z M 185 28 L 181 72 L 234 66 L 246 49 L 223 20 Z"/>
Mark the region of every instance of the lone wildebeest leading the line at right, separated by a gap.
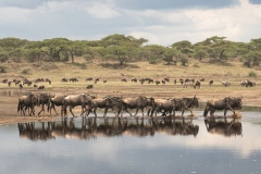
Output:
<path fill-rule="evenodd" d="M 235 114 L 235 110 L 241 109 L 243 97 L 224 97 L 222 99 L 212 99 L 207 102 L 203 116 L 206 117 L 210 111 L 210 115 L 213 116 L 216 110 L 224 110 L 224 116 L 226 116 L 227 110 L 231 110 Z"/>

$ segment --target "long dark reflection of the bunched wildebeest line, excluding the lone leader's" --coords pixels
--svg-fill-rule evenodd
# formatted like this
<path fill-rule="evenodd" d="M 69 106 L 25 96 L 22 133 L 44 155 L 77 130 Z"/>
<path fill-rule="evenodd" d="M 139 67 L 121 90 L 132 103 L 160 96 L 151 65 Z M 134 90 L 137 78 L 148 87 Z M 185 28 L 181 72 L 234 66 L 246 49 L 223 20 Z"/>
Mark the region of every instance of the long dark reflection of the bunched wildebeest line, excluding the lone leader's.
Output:
<path fill-rule="evenodd" d="M 39 124 L 39 123 L 38 123 Z M 121 119 L 121 117 L 83 117 L 82 122 L 74 119 L 63 119 L 59 122 L 40 123 L 41 127 L 35 127 L 35 123 L 20 123 L 21 137 L 30 140 L 47 140 L 54 137 L 70 139 L 95 139 L 97 137 L 115 136 L 154 136 L 156 133 L 167 135 L 194 135 L 199 130 L 198 125 L 184 120 L 161 119 Z"/>

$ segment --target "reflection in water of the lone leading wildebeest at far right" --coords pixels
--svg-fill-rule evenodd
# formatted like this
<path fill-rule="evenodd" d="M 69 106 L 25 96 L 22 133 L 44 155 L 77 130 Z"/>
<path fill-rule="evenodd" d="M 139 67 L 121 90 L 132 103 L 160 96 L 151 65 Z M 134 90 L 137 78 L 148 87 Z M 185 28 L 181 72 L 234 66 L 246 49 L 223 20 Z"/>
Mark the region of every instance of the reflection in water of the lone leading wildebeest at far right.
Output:
<path fill-rule="evenodd" d="M 211 134 L 217 134 L 225 137 L 237 136 L 243 133 L 243 126 L 240 120 L 232 119 L 227 121 L 227 119 L 215 119 L 211 117 L 204 120 L 204 124 L 207 130 Z"/>

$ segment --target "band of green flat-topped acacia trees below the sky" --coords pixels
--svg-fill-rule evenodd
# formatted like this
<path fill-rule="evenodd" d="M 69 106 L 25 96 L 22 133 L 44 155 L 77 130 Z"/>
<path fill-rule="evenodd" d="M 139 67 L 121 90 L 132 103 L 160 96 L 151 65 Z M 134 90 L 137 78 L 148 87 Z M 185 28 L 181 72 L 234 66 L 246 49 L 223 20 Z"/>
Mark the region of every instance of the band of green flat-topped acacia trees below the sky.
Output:
<path fill-rule="evenodd" d="M 127 62 L 148 61 L 151 64 L 164 61 L 167 65 L 179 62 L 187 65 L 190 59 L 207 62 L 237 60 L 245 66 L 254 67 L 261 61 L 261 38 L 250 42 L 229 41 L 226 37 L 213 36 L 203 41 L 191 44 L 188 40 L 174 42 L 167 47 L 148 45 L 148 39 L 120 34 L 109 35 L 100 40 L 70 40 L 52 38 L 30 41 L 14 37 L 0 39 L 0 62 L 71 62 L 85 58 L 86 61 L 99 59 Z"/>

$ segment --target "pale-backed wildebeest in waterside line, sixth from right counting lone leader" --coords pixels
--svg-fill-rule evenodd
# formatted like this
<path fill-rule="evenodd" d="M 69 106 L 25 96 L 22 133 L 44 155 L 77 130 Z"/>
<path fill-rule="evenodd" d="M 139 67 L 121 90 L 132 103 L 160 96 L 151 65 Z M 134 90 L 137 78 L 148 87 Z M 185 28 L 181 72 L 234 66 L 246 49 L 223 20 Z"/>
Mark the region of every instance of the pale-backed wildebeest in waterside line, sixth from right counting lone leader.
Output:
<path fill-rule="evenodd" d="M 91 110 L 94 108 L 94 100 L 90 96 L 86 94 L 66 96 L 63 100 L 64 115 L 67 114 L 66 109 L 67 107 L 70 107 L 70 112 L 72 113 L 73 116 L 75 116 L 72 109 L 77 105 L 82 107 L 82 113 L 80 113 L 82 115 L 87 110 L 86 105 L 88 105 L 88 110 Z"/>

